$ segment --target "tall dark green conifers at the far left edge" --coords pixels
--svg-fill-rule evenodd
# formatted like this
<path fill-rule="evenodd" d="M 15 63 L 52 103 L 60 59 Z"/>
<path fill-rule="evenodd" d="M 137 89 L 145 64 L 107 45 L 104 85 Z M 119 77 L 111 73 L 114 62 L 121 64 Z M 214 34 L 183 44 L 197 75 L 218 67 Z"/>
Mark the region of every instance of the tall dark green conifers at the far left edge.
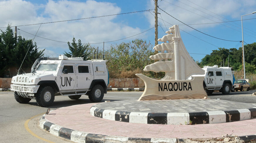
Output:
<path fill-rule="evenodd" d="M 29 49 L 30 44 L 31 47 Z M 1 30 L 0 51 L 0 77 L 5 77 L 6 75 L 12 76 L 16 71 L 11 71 L 11 68 L 20 67 L 27 51 L 28 54 L 22 68 L 30 68 L 37 58 L 43 56 L 44 52 L 44 50 L 38 51 L 36 43 L 33 44 L 31 39 L 25 40 L 21 36 L 18 36 L 17 40 L 15 40 L 10 24 L 8 24 L 5 31 Z"/>

